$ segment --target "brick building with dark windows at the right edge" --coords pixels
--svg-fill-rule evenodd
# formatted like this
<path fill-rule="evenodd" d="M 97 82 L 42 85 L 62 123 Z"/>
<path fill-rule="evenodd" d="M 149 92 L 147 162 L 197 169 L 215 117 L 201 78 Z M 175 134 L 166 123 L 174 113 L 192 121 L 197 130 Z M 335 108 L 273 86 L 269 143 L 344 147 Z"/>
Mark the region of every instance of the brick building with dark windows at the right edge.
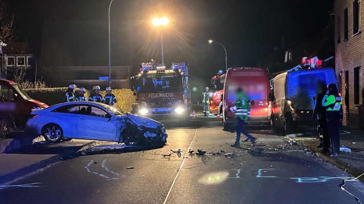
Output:
<path fill-rule="evenodd" d="M 334 13 L 335 69 L 343 99 L 348 95 L 347 104 L 343 100 L 343 125 L 364 129 L 364 2 L 335 1 Z"/>

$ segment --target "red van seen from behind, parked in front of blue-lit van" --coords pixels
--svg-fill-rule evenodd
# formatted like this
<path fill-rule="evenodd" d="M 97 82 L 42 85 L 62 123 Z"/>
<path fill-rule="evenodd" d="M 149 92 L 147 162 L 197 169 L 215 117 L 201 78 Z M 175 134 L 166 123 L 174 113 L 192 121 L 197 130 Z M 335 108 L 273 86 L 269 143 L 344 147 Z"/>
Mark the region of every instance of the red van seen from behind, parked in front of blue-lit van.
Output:
<path fill-rule="evenodd" d="M 224 130 L 235 130 L 236 119 L 230 107 L 235 105 L 236 90 L 241 87 L 250 100 L 249 125 L 270 125 L 270 82 L 268 72 L 260 67 L 230 68 L 226 74 L 223 96 Z"/>

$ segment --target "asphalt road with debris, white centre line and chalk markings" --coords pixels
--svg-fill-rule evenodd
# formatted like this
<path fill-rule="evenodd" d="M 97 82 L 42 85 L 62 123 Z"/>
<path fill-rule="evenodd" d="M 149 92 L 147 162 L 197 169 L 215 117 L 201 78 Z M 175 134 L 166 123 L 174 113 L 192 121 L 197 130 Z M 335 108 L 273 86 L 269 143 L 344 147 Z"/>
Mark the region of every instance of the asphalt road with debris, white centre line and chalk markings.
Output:
<path fill-rule="evenodd" d="M 349 174 L 266 127 L 247 128 L 254 147 L 232 148 L 235 134 L 217 119 L 164 123 L 163 147 L 101 143 L 0 188 L 0 203 L 359 203 L 348 192 L 364 201 L 362 183 L 341 190 Z"/>

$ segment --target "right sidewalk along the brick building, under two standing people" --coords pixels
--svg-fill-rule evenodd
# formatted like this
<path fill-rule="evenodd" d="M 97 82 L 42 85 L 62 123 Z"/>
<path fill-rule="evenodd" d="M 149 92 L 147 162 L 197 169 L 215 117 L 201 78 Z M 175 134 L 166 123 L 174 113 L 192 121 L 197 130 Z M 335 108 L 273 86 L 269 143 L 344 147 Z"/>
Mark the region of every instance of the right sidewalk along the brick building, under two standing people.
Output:
<path fill-rule="evenodd" d="M 324 158 L 341 170 L 346 170 L 354 177 L 364 173 L 364 130 L 351 129 L 350 127 L 343 126 L 340 129 L 340 147 L 347 147 L 351 152 L 340 151 L 340 155 L 337 157 L 330 157 L 319 152 L 321 148 L 316 147 L 319 144 L 319 139 L 315 137 L 289 137 L 287 135 L 286 138 L 307 148 L 315 155 Z M 358 179 L 364 183 L 364 175 Z"/>

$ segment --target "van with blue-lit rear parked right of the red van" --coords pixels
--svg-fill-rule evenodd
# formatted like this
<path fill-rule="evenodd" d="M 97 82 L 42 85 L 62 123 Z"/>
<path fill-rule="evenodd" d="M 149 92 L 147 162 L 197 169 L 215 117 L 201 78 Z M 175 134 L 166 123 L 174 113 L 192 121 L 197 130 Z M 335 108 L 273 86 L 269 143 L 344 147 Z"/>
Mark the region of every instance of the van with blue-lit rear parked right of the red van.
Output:
<path fill-rule="evenodd" d="M 292 134 L 296 133 L 300 125 L 317 125 L 312 115 L 318 81 L 326 82 L 327 85 L 335 83 L 338 88 L 332 67 L 292 70 L 278 74 L 273 79 L 270 100 L 274 130 L 284 128 L 286 134 Z"/>

